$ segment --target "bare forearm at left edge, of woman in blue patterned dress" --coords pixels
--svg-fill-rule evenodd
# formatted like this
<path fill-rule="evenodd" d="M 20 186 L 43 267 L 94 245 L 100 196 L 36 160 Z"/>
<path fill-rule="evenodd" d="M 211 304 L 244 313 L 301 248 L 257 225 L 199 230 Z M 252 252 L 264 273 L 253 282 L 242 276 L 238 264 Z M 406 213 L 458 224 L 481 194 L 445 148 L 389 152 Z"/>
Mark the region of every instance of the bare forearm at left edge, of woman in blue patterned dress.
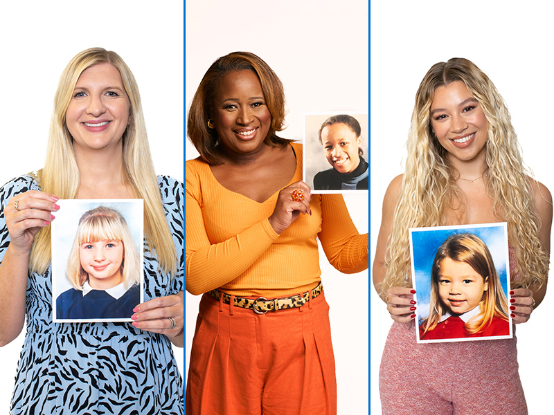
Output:
<path fill-rule="evenodd" d="M 25 322 L 29 254 L 8 246 L 0 266 L 0 346 L 21 333 Z"/>

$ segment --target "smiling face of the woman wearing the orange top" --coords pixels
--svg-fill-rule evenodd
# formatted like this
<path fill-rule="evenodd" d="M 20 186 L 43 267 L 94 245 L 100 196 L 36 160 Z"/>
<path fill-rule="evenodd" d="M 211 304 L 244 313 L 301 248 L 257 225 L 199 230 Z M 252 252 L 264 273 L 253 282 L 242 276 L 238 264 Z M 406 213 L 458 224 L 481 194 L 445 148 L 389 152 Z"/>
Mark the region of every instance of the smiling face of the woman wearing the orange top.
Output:
<path fill-rule="evenodd" d="M 262 148 L 271 127 L 271 113 L 256 73 L 233 71 L 225 75 L 213 108 L 213 124 L 224 151 L 249 154 Z"/>

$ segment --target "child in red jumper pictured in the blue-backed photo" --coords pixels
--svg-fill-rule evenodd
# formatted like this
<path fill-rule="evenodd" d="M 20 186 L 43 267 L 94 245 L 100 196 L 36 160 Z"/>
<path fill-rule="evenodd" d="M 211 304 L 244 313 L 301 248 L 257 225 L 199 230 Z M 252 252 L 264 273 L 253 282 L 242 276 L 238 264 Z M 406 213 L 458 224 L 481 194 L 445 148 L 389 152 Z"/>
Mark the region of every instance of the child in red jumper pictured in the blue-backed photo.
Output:
<path fill-rule="evenodd" d="M 485 243 L 474 234 L 454 234 L 438 248 L 431 267 L 429 317 L 420 339 L 510 334 L 508 300 Z"/>

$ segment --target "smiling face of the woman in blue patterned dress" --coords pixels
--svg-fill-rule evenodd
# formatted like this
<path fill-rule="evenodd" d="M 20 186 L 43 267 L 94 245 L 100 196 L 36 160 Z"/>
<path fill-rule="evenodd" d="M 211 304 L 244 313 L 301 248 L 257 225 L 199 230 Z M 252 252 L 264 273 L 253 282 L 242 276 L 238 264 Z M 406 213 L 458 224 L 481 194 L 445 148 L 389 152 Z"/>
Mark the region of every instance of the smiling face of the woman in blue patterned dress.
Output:
<path fill-rule="evenodd" d="M 66 126 L 75 151 L 121 145 L 130 109 L 121 75 L 114 66 L 97 64 L 85 69 L 66 111 Z"/>

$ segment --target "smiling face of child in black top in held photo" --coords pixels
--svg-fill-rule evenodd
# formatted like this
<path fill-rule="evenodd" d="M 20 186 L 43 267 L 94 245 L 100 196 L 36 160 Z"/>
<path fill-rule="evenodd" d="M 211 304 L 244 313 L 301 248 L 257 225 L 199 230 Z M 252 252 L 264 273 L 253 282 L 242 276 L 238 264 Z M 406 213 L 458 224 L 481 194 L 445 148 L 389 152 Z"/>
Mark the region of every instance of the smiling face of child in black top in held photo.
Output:
<path fill-rule="evenodd" d="M 321 144 L 325 149 L 325 158 L 337 172 L 350 173 L 358 167 L 361 136 L 356 137 L 348 125 L 337 122 L 324 127 Z"/>

